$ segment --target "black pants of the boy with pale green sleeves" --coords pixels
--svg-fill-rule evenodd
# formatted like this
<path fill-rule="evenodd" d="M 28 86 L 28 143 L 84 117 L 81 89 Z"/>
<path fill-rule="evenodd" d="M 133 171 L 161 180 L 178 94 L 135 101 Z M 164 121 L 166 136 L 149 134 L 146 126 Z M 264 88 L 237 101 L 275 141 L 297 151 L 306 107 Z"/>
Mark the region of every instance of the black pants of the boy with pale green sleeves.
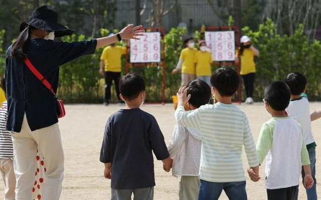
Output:
<path fill-rule="evenodd" d="M 266 189 L 268 200 L 294 200 L 298 191 L 299 185 L 273 190 Z"/>

